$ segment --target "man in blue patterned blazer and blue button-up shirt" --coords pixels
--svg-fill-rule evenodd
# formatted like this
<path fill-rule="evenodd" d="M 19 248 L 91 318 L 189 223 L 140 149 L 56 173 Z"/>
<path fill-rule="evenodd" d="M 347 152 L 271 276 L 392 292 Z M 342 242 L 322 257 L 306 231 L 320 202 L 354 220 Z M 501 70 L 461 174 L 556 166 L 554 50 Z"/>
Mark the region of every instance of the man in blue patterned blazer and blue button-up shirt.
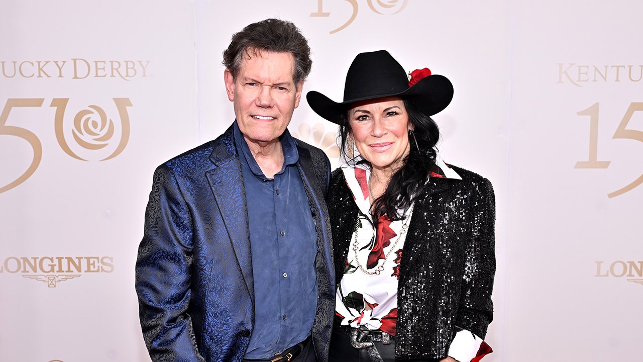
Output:
<path fill-rule="evenodd" d="M 224 51 L 236 120 L 156 169 L 136 263 L 157 361 L 326 361 L 334 300 L 328 158 L 286 127 L 311 70 L 293 23 Z"/>

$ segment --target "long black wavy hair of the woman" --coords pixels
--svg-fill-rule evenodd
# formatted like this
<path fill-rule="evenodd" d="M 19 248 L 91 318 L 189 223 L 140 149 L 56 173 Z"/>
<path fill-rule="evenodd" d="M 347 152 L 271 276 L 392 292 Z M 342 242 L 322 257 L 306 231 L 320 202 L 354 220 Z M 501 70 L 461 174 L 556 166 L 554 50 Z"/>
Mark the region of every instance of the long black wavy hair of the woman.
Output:
<path fill-rule="evenodd" d="M 403 166 L 391 176 L 383 195 L 371 204 L 370 213 L 376 220 L 383 215 L 390 220 L 403 220 L 413 198 L 419 195 L 428 181 L 431 171 L 437 171 L 435 145 L 440 139 L 438 125 L 431 117 L 422 113 L 412 100 L 404 99 L 403 102 L 409 122 L 413 124 L 413 131 L 409 132 L 410 150 L 403 159 Z M 352 156 L 353 144 L 349 142 L 350 131 L 347 111 L 341 117 L 340 151 L 349 164 L 355 160 Z M 362 162 L 368 164 L 366 160 Z"/>

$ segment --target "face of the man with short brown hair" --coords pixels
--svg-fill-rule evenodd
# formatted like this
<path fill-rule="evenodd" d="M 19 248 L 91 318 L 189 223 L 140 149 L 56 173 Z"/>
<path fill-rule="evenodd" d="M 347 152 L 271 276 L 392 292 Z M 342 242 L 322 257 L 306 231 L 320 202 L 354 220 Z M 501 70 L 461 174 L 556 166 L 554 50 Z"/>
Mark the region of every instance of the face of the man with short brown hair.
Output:
<path fill-rule="evenodd" d="M 226 69 L 226 91 L 235 108 L 239 129 L 248 144 L 265 146 L 284 133 L 299 106 L 303 81 L 293 81 L 291 53 L 249 52 L 237 74 Z"/>

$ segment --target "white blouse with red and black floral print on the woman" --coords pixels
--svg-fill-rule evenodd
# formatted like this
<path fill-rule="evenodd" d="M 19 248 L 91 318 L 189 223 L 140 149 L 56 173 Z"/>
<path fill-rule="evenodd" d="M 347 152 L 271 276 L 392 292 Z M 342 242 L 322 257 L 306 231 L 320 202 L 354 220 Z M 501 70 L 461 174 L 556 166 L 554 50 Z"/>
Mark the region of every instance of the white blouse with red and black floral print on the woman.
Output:
<path fill-rule="evenodd" d="M 441 160 L 436 163 L 442 172 L 431 173 L 431 177 L 462 180 Z M 342 325 L 365 326 L 395 336 L 399 263 L 406 239 L 406 224 L 411 220 L 413 208 L 404 220 L 392 222 L 381 216 L 375 223 L 369 212 L 370 169 L 363 164 L 341 168 L 360 215 L 336 294 L 336 315 L 342 319 Z M 377 224 L 377 230 L 374 224 Z M 489 347 L 481 338 L 468 330 L 460 330 L 449 347 L 449 356 L 460 362 L 475 362 L 484 356 L 479 352 L 485 348 Z"/>

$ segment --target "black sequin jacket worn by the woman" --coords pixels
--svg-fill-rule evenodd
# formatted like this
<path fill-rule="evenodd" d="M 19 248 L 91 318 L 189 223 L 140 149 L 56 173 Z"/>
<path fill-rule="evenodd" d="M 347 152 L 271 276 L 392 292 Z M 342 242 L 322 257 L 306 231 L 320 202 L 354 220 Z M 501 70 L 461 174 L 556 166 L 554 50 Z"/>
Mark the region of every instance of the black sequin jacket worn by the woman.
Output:
<path fill-rule="evenodd" d="M 397 359 L 444 358 L 458 330 L 484 338 L 493 319 L 493 187 L 453 169 L 462 180 L 432 177 L 415 201 L 397 289 Z M 339 283 L 358 217 L 341 169 L 333 171 L 328 195 Z"/>

